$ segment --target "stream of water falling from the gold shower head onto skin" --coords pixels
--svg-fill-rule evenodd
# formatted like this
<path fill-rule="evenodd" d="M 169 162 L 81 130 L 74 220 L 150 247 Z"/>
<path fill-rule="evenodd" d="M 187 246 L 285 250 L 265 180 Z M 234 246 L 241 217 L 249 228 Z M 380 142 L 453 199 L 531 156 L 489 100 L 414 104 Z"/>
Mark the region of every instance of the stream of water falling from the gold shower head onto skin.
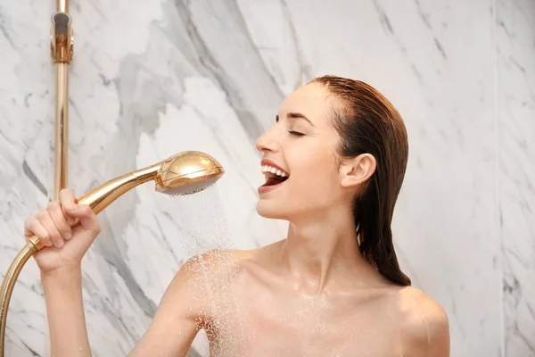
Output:
<path fill-rule="evenodd" d="M 188 257 L 185 271 L 190 291 L 199 305 L 208 311 L 191 311 L 197 319 L 210 316 L 208 336 L 225 336 L 210 345 L 210 355 L 237 356 L 245 331 L 236 324 L 239 308 L 236 301 L 235 278 L 239 274 L 232 253 L 232 239 L 224 206 L 214 185 L 194 195 L 169 200 L 170 213 L 176 222 L 180 245 Z M 232 328 L 230 321 L 233 321 Z M 202 351 L 202 354 L 205 354 Z M 193 357 L 195 354 L 189 354 Z M 199 353 L 196 354 L 200 355 Z"/>

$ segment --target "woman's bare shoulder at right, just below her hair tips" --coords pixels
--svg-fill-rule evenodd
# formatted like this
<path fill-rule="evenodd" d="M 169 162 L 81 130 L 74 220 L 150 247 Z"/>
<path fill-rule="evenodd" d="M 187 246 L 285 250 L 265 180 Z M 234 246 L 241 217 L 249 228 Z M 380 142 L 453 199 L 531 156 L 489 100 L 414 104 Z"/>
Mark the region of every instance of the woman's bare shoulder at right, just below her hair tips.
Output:
<path fill-rule="evenodd" d="M 404 310 L 402 331 L 411 356 L 449 357 L 449 321 L 446 311 L 423 291 L 403 287 L 399 297 Z"/>

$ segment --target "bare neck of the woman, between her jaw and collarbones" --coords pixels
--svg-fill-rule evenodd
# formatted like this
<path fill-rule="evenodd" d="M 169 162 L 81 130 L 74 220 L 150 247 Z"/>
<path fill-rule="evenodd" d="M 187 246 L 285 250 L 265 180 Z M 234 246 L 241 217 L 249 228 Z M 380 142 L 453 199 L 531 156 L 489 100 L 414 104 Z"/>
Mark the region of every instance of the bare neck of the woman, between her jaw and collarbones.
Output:
<path fill-rule="evenodd" d="M 281 247 L 282 259 L 298 278 L 298 286 L 312 294 L 321 293 L 333 281 L 340 285 L 354 273 L 371 277 L 373 270 L 358 249 L 350 210 L 324 213 L 291 220 Z"/>

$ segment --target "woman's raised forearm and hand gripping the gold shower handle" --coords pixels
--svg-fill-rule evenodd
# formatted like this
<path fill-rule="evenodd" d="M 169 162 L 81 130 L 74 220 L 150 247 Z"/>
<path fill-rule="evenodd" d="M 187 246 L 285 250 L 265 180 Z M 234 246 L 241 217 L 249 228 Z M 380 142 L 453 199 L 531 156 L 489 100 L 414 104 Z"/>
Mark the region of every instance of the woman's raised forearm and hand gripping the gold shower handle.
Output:
<path fill-rule="evenodd" d="M 101 226 L 89 206 L 75 202 L 74 193 L 62 189 L 59 202 L 24 221 L 26 239 L 35 235 L 45 245 L 33 257 L 41 271 L 54 357 L 91 356 L 80 267 Z M 77 219 L 79 226 L 71 228 Z"/>

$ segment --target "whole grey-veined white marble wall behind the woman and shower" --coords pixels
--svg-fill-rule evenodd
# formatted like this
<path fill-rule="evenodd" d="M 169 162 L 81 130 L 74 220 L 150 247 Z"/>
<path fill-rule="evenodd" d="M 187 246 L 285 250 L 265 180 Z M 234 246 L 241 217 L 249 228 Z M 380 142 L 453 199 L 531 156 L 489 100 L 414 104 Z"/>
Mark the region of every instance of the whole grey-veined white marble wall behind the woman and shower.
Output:
<path fill-rule="evenodd" d="M 53 180 L 54 2 L 0 4 L 0 274 Z M 535 355 L 535 3 L 532 0 L 73 1 L 70 187 L 183 150 L 212 154 L 230 244 L 284 237 L 255 212 L 254 139 L 292 90 L 362 79 L 407 123 L 394 222 L 401 265 L 449 314 L 452 356 Z M 137 187 L 101 213 L 84 261 L 95 356 L 123 356 L 190 253 L 173 209 Z M 146 252 L 151 252 L 147 254 Z M 48 355 L 29 262 L 7 356 Z M 197 351 L 206 353 L 202 338 Z"/>

